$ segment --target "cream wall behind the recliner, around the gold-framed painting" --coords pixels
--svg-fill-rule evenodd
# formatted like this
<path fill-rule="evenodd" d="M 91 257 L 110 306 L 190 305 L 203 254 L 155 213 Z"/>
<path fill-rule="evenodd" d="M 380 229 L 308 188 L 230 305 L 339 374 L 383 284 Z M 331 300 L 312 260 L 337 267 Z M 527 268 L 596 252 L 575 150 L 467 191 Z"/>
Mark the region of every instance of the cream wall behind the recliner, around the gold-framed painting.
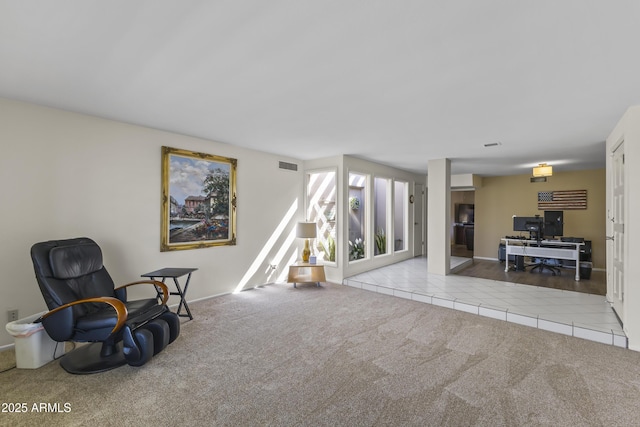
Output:
<path fill-rule="evenodd" d="M 275 281 L 298 253 L 301 161 L 2 98 L 0 140 L 2 316 L 46 309 L 29 257 L 43 240 L 95 239 L 117 284 L 161 267 L 197 267 L 189 300 Z M 238 159 L 237 245 L 160 252 L 163 145 Z M 300 168 L 279 169 L 279 160 Z M 0 328 L 0 349 L 12 342 Z"/>

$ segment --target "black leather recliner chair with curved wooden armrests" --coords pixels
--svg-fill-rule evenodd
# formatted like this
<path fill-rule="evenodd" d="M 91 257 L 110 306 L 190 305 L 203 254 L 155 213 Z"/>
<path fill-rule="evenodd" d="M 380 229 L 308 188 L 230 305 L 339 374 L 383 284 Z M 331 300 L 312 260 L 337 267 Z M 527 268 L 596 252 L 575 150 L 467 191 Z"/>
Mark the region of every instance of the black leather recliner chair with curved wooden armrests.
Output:
<path fill-rule="evenodd" d="M 36 243 L 31 259 L 50 310 L 38 319 L 45 331 L 58 342 L 91 343 L 62 357 L 60 365 L 67 372 L 90 374 L 126 363 L 144 365 L 180 334 L 180 319 L 166 306 L 167 286 L 141 280 L 115 288 L 93 240 Z M 150 284 L 154 297 L 127 301 L 126 288 L 138 284 Z"/>

